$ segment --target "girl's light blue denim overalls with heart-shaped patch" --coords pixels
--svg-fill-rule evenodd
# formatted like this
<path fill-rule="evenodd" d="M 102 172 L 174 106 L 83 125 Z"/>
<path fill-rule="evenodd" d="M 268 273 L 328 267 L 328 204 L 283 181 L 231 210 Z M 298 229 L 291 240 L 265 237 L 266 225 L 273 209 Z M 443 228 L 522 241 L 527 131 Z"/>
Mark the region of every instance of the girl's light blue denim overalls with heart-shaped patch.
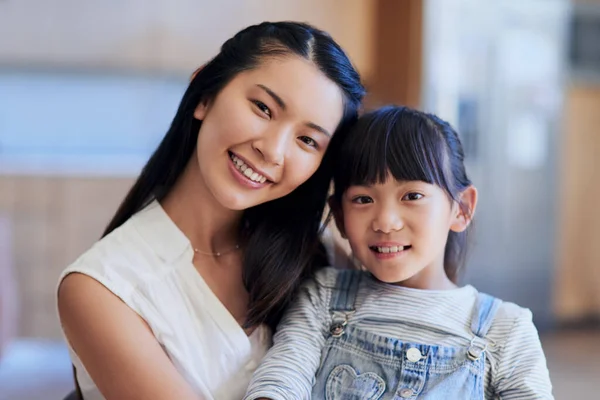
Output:
<path fill-rule="evenodd" d="M 361 271 L 339 273 L 333 324 L 313 386 L 315 400 L 484 399 L 485 339 L 501 301 L 479 294 L 464 347 L 405 343 L 352 324 Z"/>

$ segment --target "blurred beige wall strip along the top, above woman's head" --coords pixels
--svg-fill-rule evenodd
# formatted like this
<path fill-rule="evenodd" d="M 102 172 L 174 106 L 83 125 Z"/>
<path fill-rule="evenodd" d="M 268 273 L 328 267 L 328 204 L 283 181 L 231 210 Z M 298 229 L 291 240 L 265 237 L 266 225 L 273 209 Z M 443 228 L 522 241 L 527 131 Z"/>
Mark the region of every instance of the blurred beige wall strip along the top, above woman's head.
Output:
<path fill-rule="evenodd" d="M 0 65 L 188 74 L 241 28 L 291 19 L 330 32 L 367 76 L 372 13 L 364 0 L 0 1 Z"/>

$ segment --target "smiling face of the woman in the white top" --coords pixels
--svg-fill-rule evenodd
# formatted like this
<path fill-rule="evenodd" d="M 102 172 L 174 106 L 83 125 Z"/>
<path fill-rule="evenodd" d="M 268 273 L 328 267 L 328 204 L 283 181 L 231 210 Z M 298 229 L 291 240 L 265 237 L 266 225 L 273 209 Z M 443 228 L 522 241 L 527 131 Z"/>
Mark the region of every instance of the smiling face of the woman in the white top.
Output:
<path fill-rule="evenodd" d="M 194 112 L 204 185 L 231 210 L 289 194 L 319 167 L 343 108 L 339 87 L 300 57 L 238 74 Z"/>

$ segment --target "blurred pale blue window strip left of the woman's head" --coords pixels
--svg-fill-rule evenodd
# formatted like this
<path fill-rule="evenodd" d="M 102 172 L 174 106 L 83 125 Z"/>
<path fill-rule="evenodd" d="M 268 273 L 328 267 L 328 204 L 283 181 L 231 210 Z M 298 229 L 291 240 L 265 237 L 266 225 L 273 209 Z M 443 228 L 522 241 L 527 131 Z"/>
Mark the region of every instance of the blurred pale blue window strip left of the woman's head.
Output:
<path fill-rule="evenodd" d="M 137 175 L 185 78 L 0 70 L 0 174 Z"/>

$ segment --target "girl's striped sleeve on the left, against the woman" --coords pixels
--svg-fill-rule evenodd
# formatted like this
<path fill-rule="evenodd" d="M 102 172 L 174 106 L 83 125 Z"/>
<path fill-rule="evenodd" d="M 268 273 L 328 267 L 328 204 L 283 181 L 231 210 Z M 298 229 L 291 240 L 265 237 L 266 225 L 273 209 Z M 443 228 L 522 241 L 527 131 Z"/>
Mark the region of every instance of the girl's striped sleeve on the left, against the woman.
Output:
<path fill-rule="evenodd" d="M 273 347 L 254 373 L 245 400 L 310 399 L 329 326 L 334 271 L 322 270 L 300 289 L 273 336 Z M 328 279 L 329 278 L 329 279 Z"/>

